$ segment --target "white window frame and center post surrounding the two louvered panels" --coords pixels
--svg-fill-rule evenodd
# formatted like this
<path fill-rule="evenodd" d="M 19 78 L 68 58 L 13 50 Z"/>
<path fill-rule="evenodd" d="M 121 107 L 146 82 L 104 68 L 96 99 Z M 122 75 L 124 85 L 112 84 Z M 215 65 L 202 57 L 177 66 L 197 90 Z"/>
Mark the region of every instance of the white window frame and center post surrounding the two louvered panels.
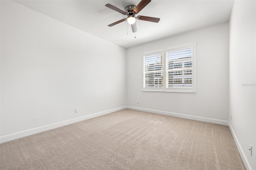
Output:
<path fill-rule="evenodd" d="M 166 52 L 167 51 L 174 51 L 179 49 L 184 49 L 192 47 L 193 56 L 192 56 L 192 87 L 166 87 Z M 163 87 L 158 88 L 150 88 L 144 87 L 144 56 L 151 55 L 155 53 L 163 53 Z M 173 47 L 168 47 L 156 51 L 146 52 L 142 55 L 142 91 L 149 91 L 149 92 L 175 92 L 175 93 L 196 93 L 196 42 L 185 43 L 182 45 L 177 45 Z"/>

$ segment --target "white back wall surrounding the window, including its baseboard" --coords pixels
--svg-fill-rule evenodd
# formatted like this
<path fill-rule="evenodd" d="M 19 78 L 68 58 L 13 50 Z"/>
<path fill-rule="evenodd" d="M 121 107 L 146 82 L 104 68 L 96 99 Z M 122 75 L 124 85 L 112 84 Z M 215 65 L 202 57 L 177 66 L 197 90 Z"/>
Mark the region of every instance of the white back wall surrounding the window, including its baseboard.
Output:
<path fill-rule="evenodd" d="M 142 53 L 192 41 L 196 41 L 197 45 L 196 94 L 142 92 Z M 127 50 L 127 106 L 132 109 L 227 125 L 228 23 L 129 48 Z"/>

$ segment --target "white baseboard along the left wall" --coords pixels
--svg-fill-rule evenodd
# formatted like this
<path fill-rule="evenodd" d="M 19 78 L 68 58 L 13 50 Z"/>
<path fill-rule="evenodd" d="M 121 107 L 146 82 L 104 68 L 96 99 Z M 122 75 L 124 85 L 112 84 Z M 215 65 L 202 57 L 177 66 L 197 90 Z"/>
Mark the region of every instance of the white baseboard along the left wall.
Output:
<path fill-rule="evenodd" d="M 70 120 L 67 120 L 67 121 L 54 123 L 54 124 L 51 124 L 51 125 L 46 125 L 46 126 L 42 126 L 42 127 L 37 127 L 37 128 L 24 130 L 24 131 L 21 131 L 21 132 L 16 132 L 16 133 L 13 133 L 13 134 L 8 134 L 8 135 L 0 137 L 0 143 L 8 142 L 10 140 L 22 138 L 22 137 L 29 136 L 29 135 L 32 135 L 32 134 L 36 134 L 36 133 L 39 133 L 39 132 L 43 132 L 43 131 L 46 131 L 46 130 L 62 127 L 62 126 L 69 125 L 69 124 L 72 124 L 72 123 L 84 121 L 86 119 L 91 119 L 91 118 L 98 117 L 98 116 L 101 116 L 101 115 L 106 115 L 108 113 L 112 113 L 112 112 L 115 112 L 115 111 L 120 111 L 122 109 L 126 109 L 126 106 L 118 107 L 118 108 L 115 108 L 115 109 L 110 109 L 110 110 L 107 110 L 107 111 L 102 111 L 102 112 L 99 112 L 99 113 L 94 113 L 94 114 L 91 114 L 91 115 L 78 117 L 78 118 L 75 118 L 75 119 L 70 119 Z"/>

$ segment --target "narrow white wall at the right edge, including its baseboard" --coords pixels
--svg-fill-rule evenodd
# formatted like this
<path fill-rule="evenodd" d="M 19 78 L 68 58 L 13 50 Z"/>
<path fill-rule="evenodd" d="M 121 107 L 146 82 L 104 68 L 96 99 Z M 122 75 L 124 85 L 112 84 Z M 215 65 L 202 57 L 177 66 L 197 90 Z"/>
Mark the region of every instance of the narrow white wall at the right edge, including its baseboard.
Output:
<path fill-rule="evenodd" d="M 256 3 L 235 1 L 230 18 L 229 121 L 247 169 L 256 170 Z M 248 84 L 248 86 L 243 86 Z M 232 115 L 232 120 L 230 119 Z M 253 147 L 250 156 L 249 143 Z"/>

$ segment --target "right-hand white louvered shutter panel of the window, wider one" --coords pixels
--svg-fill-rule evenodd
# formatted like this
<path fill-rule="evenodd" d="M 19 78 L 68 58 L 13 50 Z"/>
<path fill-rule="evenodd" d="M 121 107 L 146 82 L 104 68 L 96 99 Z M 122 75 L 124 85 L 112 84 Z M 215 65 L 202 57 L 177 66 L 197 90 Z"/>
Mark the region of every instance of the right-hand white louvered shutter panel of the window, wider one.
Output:
<path fill-rule="evenodd" d="M 193 47 L 166 51 L 166 88 L 192 87 Z"/>

